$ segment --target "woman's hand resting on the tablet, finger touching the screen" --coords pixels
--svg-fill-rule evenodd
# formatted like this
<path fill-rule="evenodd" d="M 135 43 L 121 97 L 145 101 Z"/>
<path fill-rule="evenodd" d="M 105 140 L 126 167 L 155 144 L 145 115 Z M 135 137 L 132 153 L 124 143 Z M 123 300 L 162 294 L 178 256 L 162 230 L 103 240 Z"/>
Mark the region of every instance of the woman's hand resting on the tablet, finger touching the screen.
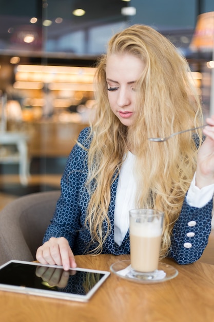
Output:
<path fill-rule="evenodd" d="M 67 239 L 51 237 L 49 241 L 38 247 L 36 259 L 41 264 L 62 265 L 65 271 L 75 269 L 76 262 Z"/>

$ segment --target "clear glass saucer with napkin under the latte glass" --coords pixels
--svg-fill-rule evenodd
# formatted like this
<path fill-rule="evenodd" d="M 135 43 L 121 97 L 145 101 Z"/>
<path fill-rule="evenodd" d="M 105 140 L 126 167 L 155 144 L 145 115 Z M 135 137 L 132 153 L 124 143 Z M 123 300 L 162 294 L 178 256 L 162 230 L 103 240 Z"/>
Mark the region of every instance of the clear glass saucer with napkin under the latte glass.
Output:
<path fill-rule="evenodd" d="M 146 276 L 141 273 L 133 274 L 130 260 L 116 262 L 110 266 L 110 270 L 121 278 L 143 284 L 165 282 L 178 275 L 178 271 L 173 266 L 162 262 L 159 263 L 155 274 L 150 275 L 148 273 Z"/>

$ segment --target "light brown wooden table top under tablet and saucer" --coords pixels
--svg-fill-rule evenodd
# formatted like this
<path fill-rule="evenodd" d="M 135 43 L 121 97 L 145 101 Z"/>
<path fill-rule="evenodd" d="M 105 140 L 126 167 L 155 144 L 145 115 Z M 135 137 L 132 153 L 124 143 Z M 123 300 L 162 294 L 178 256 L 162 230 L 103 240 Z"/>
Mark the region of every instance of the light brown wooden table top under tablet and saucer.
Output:
<path fill-rule="evenodd" d="M 109 270 L 128 255 L 76 256 L 77 265 Z M 87 303 L 0 292 L 1 322 L 212 322 L 214 265 L 178 265 L 179 275 L 157 284 L 137 284 L 111 274 Z"/>

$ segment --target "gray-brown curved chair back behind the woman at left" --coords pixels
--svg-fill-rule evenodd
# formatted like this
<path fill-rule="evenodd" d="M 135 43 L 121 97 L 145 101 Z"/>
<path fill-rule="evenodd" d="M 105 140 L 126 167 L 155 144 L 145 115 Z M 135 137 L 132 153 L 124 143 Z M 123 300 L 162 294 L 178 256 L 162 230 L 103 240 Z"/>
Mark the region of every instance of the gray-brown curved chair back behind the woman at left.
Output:
<path fill-rule="evenodd" d="M 0 211 L 0 265 L 35 260 L 59 197 L 60 191 L 27 194 Z"/>

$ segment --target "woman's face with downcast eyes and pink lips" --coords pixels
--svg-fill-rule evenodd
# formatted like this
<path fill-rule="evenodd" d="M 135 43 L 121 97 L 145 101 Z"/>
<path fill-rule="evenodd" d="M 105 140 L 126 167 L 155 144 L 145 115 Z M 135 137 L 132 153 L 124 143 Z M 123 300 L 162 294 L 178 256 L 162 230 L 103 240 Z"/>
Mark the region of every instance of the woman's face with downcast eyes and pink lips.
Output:
<path fill-rule="evenodd" d="M 131 126 L 136 112 L 135 83 L 142 75 L 145 64 L 130 54 L 110 55 L 106 65 L 108 99 L 112 112 L 125 126 Z"/>

